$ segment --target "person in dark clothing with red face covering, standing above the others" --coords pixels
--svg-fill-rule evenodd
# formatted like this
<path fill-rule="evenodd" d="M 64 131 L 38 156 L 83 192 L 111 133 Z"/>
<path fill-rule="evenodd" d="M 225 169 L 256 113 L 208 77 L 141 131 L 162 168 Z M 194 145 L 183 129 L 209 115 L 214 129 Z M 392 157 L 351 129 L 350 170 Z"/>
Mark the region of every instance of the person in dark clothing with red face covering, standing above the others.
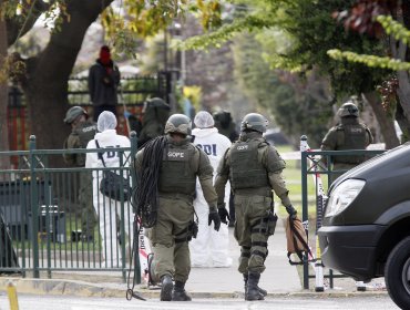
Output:
<path fill-rule="evenodd" d="M 100 58 L 89 71 L 89 93 L 94 110 L 94 122 L 103 111 L 110 111 L 116 116 L 120 78 L 120 70 L 111 59 L 110 48 L 103 45 Z"/>

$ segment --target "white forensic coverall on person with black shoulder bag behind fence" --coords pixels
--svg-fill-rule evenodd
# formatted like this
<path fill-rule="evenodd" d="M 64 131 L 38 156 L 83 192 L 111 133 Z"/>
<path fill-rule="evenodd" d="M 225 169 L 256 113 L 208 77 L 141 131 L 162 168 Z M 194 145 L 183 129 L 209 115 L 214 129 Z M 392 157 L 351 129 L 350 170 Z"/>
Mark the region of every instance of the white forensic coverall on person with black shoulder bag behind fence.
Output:
<path fill-rule="evenodd" d="M 99 133 L 95 134 L 94 140 L 91 140 L 86 145 L 86 148 L 98 148 L 95 140 L 99 142 L 101 148 L 106 151 L 102 154 L 104 157 L 106 167 L 120 167 L 119 152 L 111 151 L 114 147 L 130 147 L 131 143 L 126 136 L 117 135 L 116 131 L 116 117 L 112 112 L 104 111 L 100 114 L 98 120 Z M 130 152 L 124 152 L 122 163 L 125 167 L 130 166 L 130 162 L 126 158 L 130 157 Z M 99 158 L 98 153 L 86 153 L 85 159 L 86 168 L 102 168 L 104 167 L 102 161 Z M 115 170 L 120 174 L 120 170 Z M 125 173 L 124 177 L 125 177 Z M 116 231 L 117 227 L 116 216 L 124 223 L 124 231 L 126 234 L 125 240 L 132 236 L 130 230 L 130 206 L 127 202 L 124 202 L 124 216 L 125 219 L 121 218 L 121 202 L 111 199 L 100 192 L 100 182 L 102 179 L 102 170 L 93 170 L 93 205 L 99 217 L 99 228 L 101 236 L 102 246 L 102 265 L 103 268 L 121 267 L 121 247 L 119 245 Z M 121 230 L 120 230 L 121 231 Z"/>

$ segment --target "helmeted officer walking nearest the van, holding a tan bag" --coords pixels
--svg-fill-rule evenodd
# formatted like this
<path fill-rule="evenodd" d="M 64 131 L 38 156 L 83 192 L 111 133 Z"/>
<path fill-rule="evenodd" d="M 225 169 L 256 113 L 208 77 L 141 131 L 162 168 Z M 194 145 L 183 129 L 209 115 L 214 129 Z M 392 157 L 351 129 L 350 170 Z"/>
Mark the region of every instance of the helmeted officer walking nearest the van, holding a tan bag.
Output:
<path fill-rule="evenodd" d="M 224 203 L 225 184 L 229 179 L 235 195 L 235 238 L 240 246 L 238 271 L 245 281 L 245 300 L 263 300 L 266 290 L 258 287 L 268 255 L 268 237 L 276 216 L 273 192 L 291 217 L 296 210 L 288 197 L 281 172 L 285 162 L 276 148 L 263 137 L 268 122 L 257 113 L 247 114 L 240 124 L 240 136 L 219 162 L 215 179 L 218 206 Z M 221 215 L 221 220 L 225 216 Z"/>

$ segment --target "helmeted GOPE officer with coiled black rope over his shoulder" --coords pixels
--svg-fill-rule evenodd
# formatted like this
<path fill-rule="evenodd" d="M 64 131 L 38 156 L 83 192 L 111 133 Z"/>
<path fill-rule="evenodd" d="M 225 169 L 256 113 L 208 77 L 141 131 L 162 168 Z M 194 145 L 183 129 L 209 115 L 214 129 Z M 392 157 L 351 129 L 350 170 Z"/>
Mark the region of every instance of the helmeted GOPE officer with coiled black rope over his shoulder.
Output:
<path fill-rule="evenodd" d="M 161 281 L 162 301 L 191 300 L 185 282 L 191 271 L 188 241 L 193 237 L 196 177 L 209 207 L 208 225 L 214 223 L 215 230 L 221 227 L 213 168 L 208 156 L 191 143 L 191 120 L 183 114 L 172 115 L 165 124 L 166 146 L 157 180 L 157 217 L 150 231 L 154 252 L 151 276 L 155 282 Z M 134 162 L 137 175 L 144 170 L 144 152 L 155 140 L 137 152 Z M 226 209 L 219 210 L 224 211 L 227 215 Z"/>

